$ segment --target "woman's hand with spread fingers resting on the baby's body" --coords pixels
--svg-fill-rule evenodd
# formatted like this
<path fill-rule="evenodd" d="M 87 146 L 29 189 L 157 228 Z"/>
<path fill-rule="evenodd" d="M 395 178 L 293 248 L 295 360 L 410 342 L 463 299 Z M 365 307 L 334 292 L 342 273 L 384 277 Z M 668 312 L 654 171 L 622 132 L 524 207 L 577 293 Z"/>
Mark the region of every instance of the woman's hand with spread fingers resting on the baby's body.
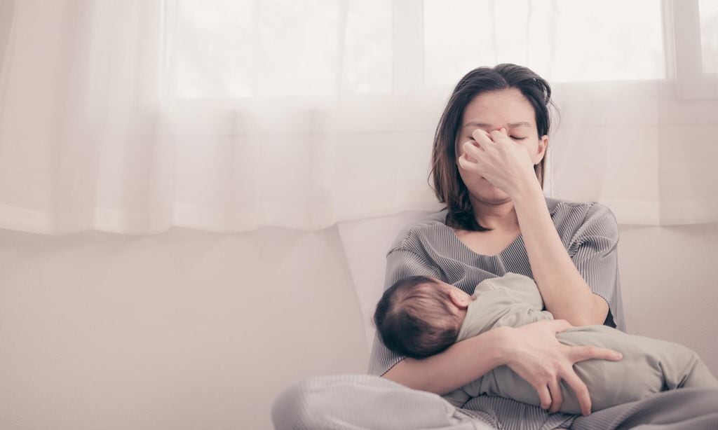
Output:
<path fill-rule="evenodd" d="M 581 405 L 582 414 L 591 413 L 591 398 L 586 384 L 574 372 L 579 361 L 598 358 L 617 361 L 622 358 L 615 350 L 595 346 L 568 346 L 559 343 L 556 333 L 571 328 L 567 320 L 544 320 L 507 329 L 505 363 L 531 384 L 541 408 L 557 412 L 564 399 L 561 397 L 561 380 L 573 389 Z"/>

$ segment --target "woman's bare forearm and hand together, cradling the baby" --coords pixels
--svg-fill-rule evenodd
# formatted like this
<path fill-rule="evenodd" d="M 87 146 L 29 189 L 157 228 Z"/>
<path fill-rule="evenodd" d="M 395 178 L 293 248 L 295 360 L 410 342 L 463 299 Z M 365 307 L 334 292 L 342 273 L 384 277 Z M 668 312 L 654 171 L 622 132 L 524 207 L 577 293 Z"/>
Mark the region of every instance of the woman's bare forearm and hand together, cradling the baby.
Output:
<path fill-rule="evenodd" d="M 588 389 L 573 370 L 574 363 L 591 358 L 620 360 L 613 350 L 567 346 L 556 333 L 571 325 L 566 320 L 544 320 L 519 328 L 499 327 L 454 343 L 443 353 L 423 360 L 405 358 L 383 374 L 409 388 L 445 394 L 484 376 L 499 365 L 508 365 L 533 386 L 541 407 L 551 412 L 561 407 L 560 382 L 577 394 L 584 415 L 590 414 Z M 552 398 L 551 393 L 554 393 Z"/>

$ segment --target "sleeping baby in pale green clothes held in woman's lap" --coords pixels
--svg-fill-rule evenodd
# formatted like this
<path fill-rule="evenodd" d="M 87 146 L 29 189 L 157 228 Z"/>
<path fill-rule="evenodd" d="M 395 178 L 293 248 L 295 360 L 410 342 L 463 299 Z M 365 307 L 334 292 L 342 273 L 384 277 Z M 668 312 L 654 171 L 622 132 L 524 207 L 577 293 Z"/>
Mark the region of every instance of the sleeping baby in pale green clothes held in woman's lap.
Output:
<path fill-rule="evenodd" d="M 374 314 L 379 336 L 394 353 L 425 358 L 454 342 L 508 325 L 553 320 L 533 279 L 508 272 L 486 279 L 468 295 L 432 277 L 402 279 L 386 290 Z M 651 393 L 682 387 L 716 387 L 718 381 L 698 355 L 677 343 L 628 335 L 605 325 L 573 327 L 556 338 L 564 345 L 595 345 L 617 350 L 623 360 L 585 360 L 574 371 L 586 383 L 592 411 L 640 400 Z M 513 398 L 541 405 L 536 390 L 506 365 L 444 395 L 463 406 L 480 395 Z M 561 412 L 581 414 L 578 398 L 561 381 Z"/>

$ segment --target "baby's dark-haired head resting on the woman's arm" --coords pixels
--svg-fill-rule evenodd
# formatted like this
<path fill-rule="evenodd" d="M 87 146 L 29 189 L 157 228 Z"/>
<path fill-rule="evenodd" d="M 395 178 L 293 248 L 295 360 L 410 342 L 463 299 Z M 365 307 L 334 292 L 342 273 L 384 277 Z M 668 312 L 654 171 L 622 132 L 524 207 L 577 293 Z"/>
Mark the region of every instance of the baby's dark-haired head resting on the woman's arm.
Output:
<path fill-rule="evenodd" d="M 449 348 L 459 335 L 460 319 L 437 279 L 412 276 L 399 280 L 381 296 L 374 325 L 382 343 L 394 353 L 426 358 Z"/>

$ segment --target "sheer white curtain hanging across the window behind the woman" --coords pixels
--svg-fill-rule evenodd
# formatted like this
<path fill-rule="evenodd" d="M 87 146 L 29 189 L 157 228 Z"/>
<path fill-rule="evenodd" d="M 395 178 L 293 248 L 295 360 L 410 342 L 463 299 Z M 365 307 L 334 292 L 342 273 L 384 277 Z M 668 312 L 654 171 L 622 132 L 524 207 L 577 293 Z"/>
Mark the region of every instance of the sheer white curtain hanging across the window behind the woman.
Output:
<path fill-rule="evenodd" d="M 677 4 L 0 2 L 0 228 L 321 229 L 437 209 L 439 115 L 498 62 L 554 85 L 547 195 L 622 224 L 718 221 L 718 10 Z"/>

